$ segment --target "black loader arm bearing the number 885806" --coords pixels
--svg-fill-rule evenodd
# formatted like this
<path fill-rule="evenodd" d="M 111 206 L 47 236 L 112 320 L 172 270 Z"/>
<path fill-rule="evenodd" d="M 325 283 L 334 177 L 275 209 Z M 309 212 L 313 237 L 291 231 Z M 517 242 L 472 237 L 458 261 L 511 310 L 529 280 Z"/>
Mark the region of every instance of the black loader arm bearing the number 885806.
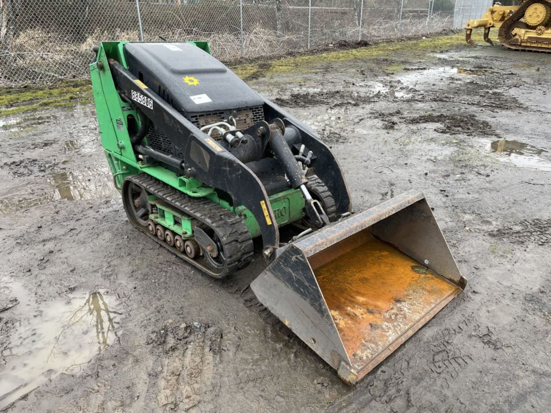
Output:
<path fill-rule="evenodd" d="M 222 189 L 231 195 L 234 204 L 242 204 L 251 211 L 260 225 L 264 256 L 272 256 L 279 246 L 279 231 L 268 194 L 258 177 L 151 89 L 147 86 L 143 88 L 136 76 L 122 64 L 111 59 L 109 67 L 123 100 L 132 102 L 132 93 L 151 99 L 150 104 L 138 104 L 139 110 L 166 135 L 180 138 L 179 142 L 183 143 L 183 147 L 179 149 L 185 154 L 186 162 L 175 157 L 173 159 L 185 171 L 186 176 L 197 178 L 210 187 Z M 239 184 L 235 184 L 236 182 Z"/>

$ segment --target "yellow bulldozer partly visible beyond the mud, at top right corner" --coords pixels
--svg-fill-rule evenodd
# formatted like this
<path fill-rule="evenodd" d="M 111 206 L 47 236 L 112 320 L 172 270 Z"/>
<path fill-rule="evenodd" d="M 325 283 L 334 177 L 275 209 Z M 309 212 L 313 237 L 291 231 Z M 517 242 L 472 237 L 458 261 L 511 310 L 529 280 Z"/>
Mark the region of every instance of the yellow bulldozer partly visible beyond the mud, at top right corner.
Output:
<path fill-rule="evenodd" d="M 469 20 L 467 43 L 476 46 L 471 39 L 472 31 L 484 28 L 484 41 L 491 41 L 490 29 L 498 28 L 499 42 L 511 50 L 551 52 L 551 0 L 526 0 L 516 6 L 494 3 L 482 19 Z"/>

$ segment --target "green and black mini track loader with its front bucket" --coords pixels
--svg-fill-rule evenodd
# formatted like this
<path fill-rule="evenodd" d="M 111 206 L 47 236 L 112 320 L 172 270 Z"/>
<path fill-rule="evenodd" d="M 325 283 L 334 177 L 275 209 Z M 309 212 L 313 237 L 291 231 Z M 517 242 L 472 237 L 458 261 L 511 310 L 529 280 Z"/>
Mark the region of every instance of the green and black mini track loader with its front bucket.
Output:
<path fill-rule="evenodd" d="M 245 268 L 262 237 L 267 268 L 251 289 L 345 382 L 462 291 L 422 193 L 350 214 L 328 147 L 206 42 L 102 42 L 95 51 L 101 144 L 129 221 L 216 278 Z"/>

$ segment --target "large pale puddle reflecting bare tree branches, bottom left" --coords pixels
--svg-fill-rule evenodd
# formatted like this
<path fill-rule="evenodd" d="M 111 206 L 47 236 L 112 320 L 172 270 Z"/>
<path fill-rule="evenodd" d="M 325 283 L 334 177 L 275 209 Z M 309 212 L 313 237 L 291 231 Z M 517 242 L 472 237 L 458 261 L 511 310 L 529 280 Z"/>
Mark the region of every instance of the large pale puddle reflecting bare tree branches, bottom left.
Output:
<path fill-rule="evenodd" d="M 12 340 L 2 349 L 0 409 L 58 374 L 79 373 L 117 340 L 122 312 L 105 290 L 37 304 L 17 282 L 7 277 L 1 282 L 19 302 L 9 311 L 24 315 L 16 317 Z"/>

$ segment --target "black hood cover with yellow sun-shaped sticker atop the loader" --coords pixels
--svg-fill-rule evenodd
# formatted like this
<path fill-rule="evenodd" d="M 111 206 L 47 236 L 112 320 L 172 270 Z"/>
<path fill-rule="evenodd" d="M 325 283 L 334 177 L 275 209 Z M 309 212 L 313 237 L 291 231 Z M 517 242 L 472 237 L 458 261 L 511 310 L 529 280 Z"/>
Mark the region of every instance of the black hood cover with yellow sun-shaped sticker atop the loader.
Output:
<path fill-rule="evenodd" d="M 264 100 L 230 69 L 186 42 L 129 42 L 128 70 L 182 113 L 259 106 Z"/>

